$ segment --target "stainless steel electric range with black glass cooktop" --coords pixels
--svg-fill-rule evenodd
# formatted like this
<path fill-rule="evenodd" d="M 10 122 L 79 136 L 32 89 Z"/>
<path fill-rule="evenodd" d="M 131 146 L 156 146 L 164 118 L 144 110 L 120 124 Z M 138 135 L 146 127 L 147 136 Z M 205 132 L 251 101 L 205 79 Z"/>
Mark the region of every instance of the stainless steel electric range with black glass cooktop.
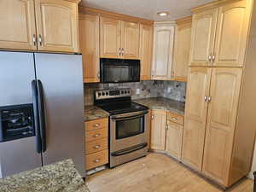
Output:
<path fill-rule="evenodd" d="M 148 108 L 131 102 L 131 90 L 97 90 L 96 106 L 110 113 L 109 166 L 148 154 Z"/>

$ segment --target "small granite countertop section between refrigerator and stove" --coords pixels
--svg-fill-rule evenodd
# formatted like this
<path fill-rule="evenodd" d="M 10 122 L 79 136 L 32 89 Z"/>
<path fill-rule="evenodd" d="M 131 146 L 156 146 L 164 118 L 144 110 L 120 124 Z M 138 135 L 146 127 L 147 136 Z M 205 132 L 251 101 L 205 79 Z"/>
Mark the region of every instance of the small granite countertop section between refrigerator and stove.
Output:
<path fill-rule="evenodd" d="M 85 106 L 84 121 L 107 118 L 109 113 L 96 106 Z"/>

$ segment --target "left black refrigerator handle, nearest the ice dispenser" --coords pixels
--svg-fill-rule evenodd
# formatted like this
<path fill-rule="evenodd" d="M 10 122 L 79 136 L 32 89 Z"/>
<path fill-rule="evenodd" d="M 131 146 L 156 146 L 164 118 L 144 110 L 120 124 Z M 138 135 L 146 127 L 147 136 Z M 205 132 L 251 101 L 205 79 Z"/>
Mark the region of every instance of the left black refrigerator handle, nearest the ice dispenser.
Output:
<path fill-rule="evenodd" d="M 41 134 L 40 134 L 39 119 L 38 119 L 38 89 L 37 89 L 36 80 L 32 80 L 32 102 L 33 102 L 33 111 L 34 111 L 34 120 L 35 120 L 37 152 L 38 154 L 41 154 L 42 140 L 41 140 Z"/>

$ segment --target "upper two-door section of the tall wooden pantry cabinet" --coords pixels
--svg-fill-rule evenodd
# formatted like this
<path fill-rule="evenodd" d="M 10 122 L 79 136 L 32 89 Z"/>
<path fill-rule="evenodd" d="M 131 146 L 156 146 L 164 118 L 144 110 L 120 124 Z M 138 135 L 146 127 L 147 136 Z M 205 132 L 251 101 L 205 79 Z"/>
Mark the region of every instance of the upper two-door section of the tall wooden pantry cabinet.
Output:
<path fill-rule="evenodd" d="M 190 66 L 242 67 L 251 15 L 249 0 L 192 9 Z"/>

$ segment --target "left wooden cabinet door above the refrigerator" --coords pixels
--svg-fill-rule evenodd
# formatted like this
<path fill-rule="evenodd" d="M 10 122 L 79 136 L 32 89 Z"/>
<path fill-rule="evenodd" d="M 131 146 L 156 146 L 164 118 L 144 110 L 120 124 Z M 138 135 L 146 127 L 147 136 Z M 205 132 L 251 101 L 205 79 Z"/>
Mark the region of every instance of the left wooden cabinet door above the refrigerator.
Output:
<path fill-rule="evenodd" d="M 33 0 L 0 1 L 0 13 L 0 49 L 37 49 Z"/>

